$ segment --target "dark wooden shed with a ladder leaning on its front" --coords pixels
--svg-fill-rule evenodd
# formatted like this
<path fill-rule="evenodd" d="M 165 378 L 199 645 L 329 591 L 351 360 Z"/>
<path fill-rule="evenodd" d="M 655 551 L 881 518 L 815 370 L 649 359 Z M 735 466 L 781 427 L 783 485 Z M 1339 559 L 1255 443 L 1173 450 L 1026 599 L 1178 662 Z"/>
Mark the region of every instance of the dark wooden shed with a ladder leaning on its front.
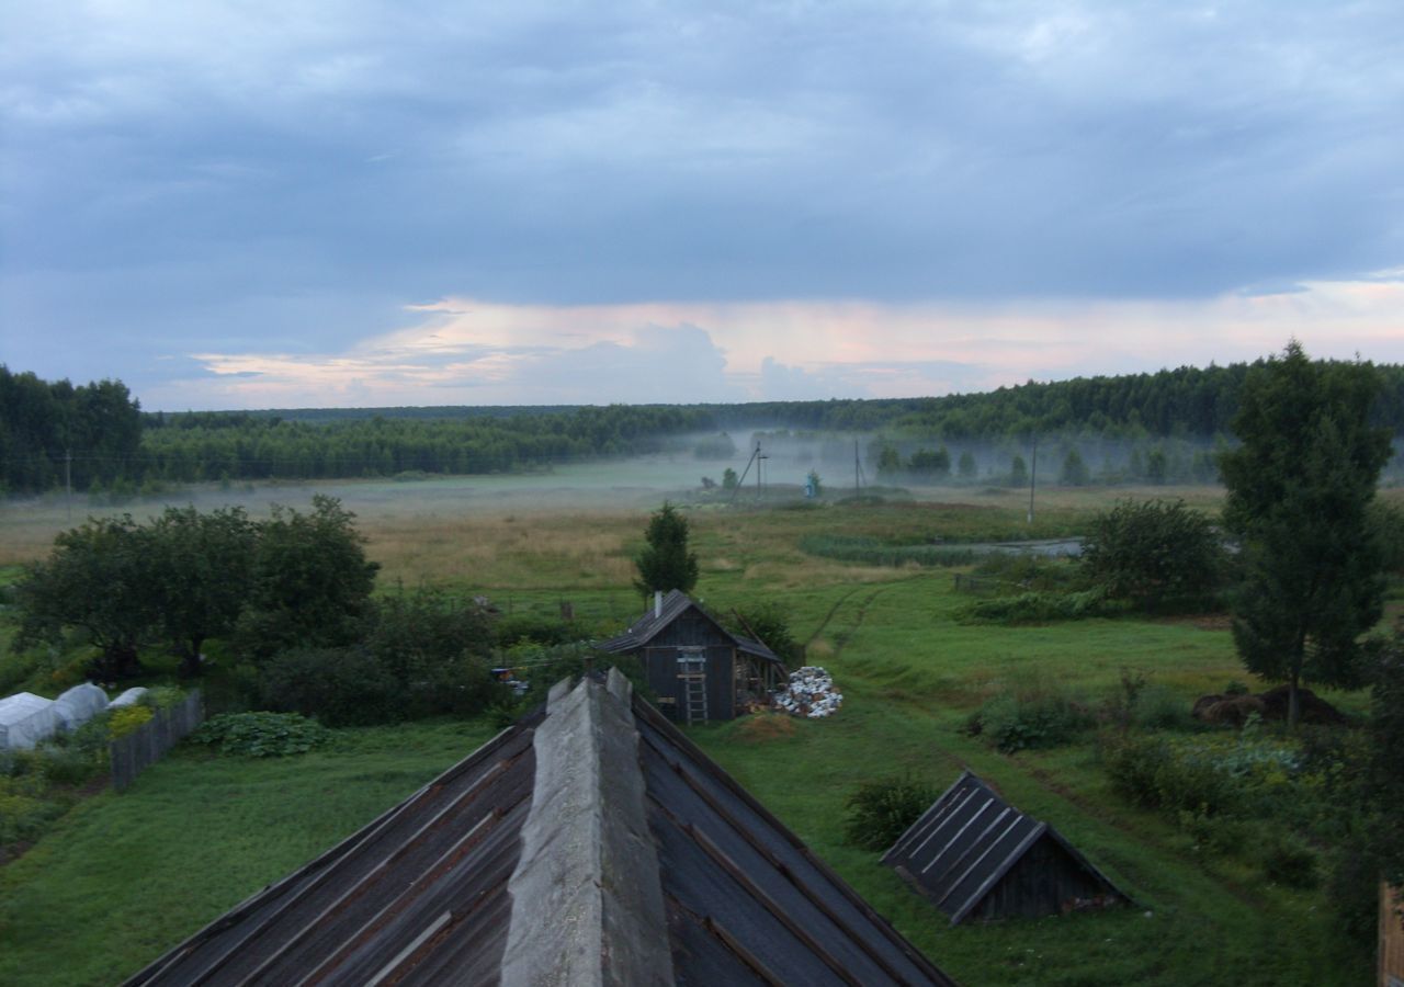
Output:
<path fill-rule="evenodd" d="M 771 649 L 737 637 L 678 590 L 656 594 L 647 614 L 600 647 L 637 657 L 658 706 L 681 723 L 730 720 L 785 681 Z"/>

